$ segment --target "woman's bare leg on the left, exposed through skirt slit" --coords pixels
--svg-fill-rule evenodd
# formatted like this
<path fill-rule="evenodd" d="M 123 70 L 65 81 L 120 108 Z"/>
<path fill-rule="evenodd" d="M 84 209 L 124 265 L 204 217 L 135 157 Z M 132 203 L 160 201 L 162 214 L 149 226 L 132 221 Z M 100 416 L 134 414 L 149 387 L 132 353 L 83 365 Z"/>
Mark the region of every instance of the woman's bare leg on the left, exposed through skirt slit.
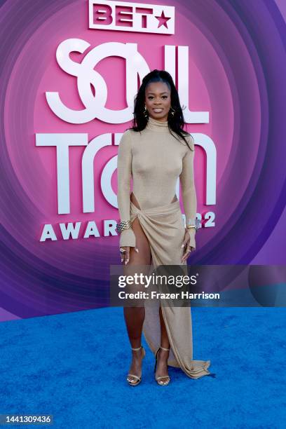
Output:
<path fill-rule="evenodd" d="M 134 247 L 130 247 L 130 260 L 128 266 L 132 265 L 150 265 L 151 264 L 151 251 L 149 241 L 140 225 L 139 219 L 136 217 L 132 222 L 132 228 L 136 237 L 136 245 L 139 252 L 135 252 Z M 141 346 L 142 328 L 145 318 L 144 307 L 124 307 L 124 318 L 127 327 L 128 337 L 132 348 Z M 132 362 L 130 365 L 129 373 L 141 376 L 142 372 L 142 350 L 132 350 Z M 135 383 L 137 379 L 128 376 L 131 383 Z"/>

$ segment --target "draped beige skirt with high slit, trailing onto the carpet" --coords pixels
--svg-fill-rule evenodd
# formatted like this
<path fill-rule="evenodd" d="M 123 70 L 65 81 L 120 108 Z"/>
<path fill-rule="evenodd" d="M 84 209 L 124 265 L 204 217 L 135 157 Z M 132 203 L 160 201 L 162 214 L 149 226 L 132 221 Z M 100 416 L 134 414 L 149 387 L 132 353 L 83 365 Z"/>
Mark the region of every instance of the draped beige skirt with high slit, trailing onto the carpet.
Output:
<path fill-rule="evenodd" d="M 160 265 L 181 265 L 184 247 L 184 223 L 179 201 L 144 209 L 130 201 L 131 222 L 138 217 L 142 229 L 149 240 L 151 250 L 151 270 Z M 159 302 L 159 301 L 158 301 Z M 193 338 L 190 307 L 161 306 L 163 319 L 170 341 L 168 365 L 180 367 L 191 379 L 211 374 L 210 360 L 193 360 Z M 143 334 L 152 352 L 160 346 L 161 329 L 159 304 L 145 306 Z"/>

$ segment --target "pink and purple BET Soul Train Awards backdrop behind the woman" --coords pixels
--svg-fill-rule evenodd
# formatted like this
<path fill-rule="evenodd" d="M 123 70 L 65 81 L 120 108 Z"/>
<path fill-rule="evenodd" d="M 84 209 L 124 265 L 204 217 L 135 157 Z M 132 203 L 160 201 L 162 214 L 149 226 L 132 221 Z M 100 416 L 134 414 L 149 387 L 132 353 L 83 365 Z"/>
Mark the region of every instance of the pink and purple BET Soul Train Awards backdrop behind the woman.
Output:
<path fill-rule="evenodd" d="M 1 4 L 0 320 L 106 306 L 134 97 L 172 74 L 196 142 L 188 264 L 285 265 L 283 0 Z M 177 184 L 182 212 L 182 195 Z"/>

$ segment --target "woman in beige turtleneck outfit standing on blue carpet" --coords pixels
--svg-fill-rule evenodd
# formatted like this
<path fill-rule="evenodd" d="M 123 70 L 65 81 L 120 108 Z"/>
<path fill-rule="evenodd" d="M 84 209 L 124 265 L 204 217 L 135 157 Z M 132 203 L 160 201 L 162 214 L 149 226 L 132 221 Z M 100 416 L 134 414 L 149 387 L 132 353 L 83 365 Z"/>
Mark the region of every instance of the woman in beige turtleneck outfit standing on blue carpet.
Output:
<path fill-rule="evenodd" d="M 196 189 L 193 181 L 193 137 L 184 131 L 179 95 L 167 71 L 144 76 L 135 97 L 133 126 L 125 130 L 118 147 L 118 211 L 121 222 L 121 262 L 132 265 L 186 265 L 196 241 Z M 130 177 L 133 191 L 130 196 Z M 186 229 L 175 193 L 182 186 Z M 208 375 L 210 361 L 192 360 L 189 307 L 124 307 L 132 348 L 127 381 L 141 381 L 142 329 L 156 356 L 155 379 L 170 382 L 168 365 L 181 367 L 193 379 Z"/>

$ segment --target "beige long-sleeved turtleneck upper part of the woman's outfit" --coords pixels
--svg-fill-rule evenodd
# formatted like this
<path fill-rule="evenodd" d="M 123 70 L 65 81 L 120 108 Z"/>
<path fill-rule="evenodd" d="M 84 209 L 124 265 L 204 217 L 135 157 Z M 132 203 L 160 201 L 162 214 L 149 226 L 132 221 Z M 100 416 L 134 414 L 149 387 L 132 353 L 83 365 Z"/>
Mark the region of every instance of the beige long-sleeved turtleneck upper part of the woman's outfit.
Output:
<path fill-rule="evenodd" d="M 118 211 L 121 221 L 130 220 L 130 178 L 140 209 L 149 209 L 171 203 L 176 195 L 176 184 L 182 188 L 186 224 L 196 219 L 196 189 L 193 175 L 194 142 L 169 130 L 168 121 L 149 116 L 144 130 L 125 130 L 118 147 Z M 196 247 L 195 229 L 188 229 L 190 245 Z M 135 246 L 135 234 L 125 229 L 120 234 L 120 246 Z"/>

